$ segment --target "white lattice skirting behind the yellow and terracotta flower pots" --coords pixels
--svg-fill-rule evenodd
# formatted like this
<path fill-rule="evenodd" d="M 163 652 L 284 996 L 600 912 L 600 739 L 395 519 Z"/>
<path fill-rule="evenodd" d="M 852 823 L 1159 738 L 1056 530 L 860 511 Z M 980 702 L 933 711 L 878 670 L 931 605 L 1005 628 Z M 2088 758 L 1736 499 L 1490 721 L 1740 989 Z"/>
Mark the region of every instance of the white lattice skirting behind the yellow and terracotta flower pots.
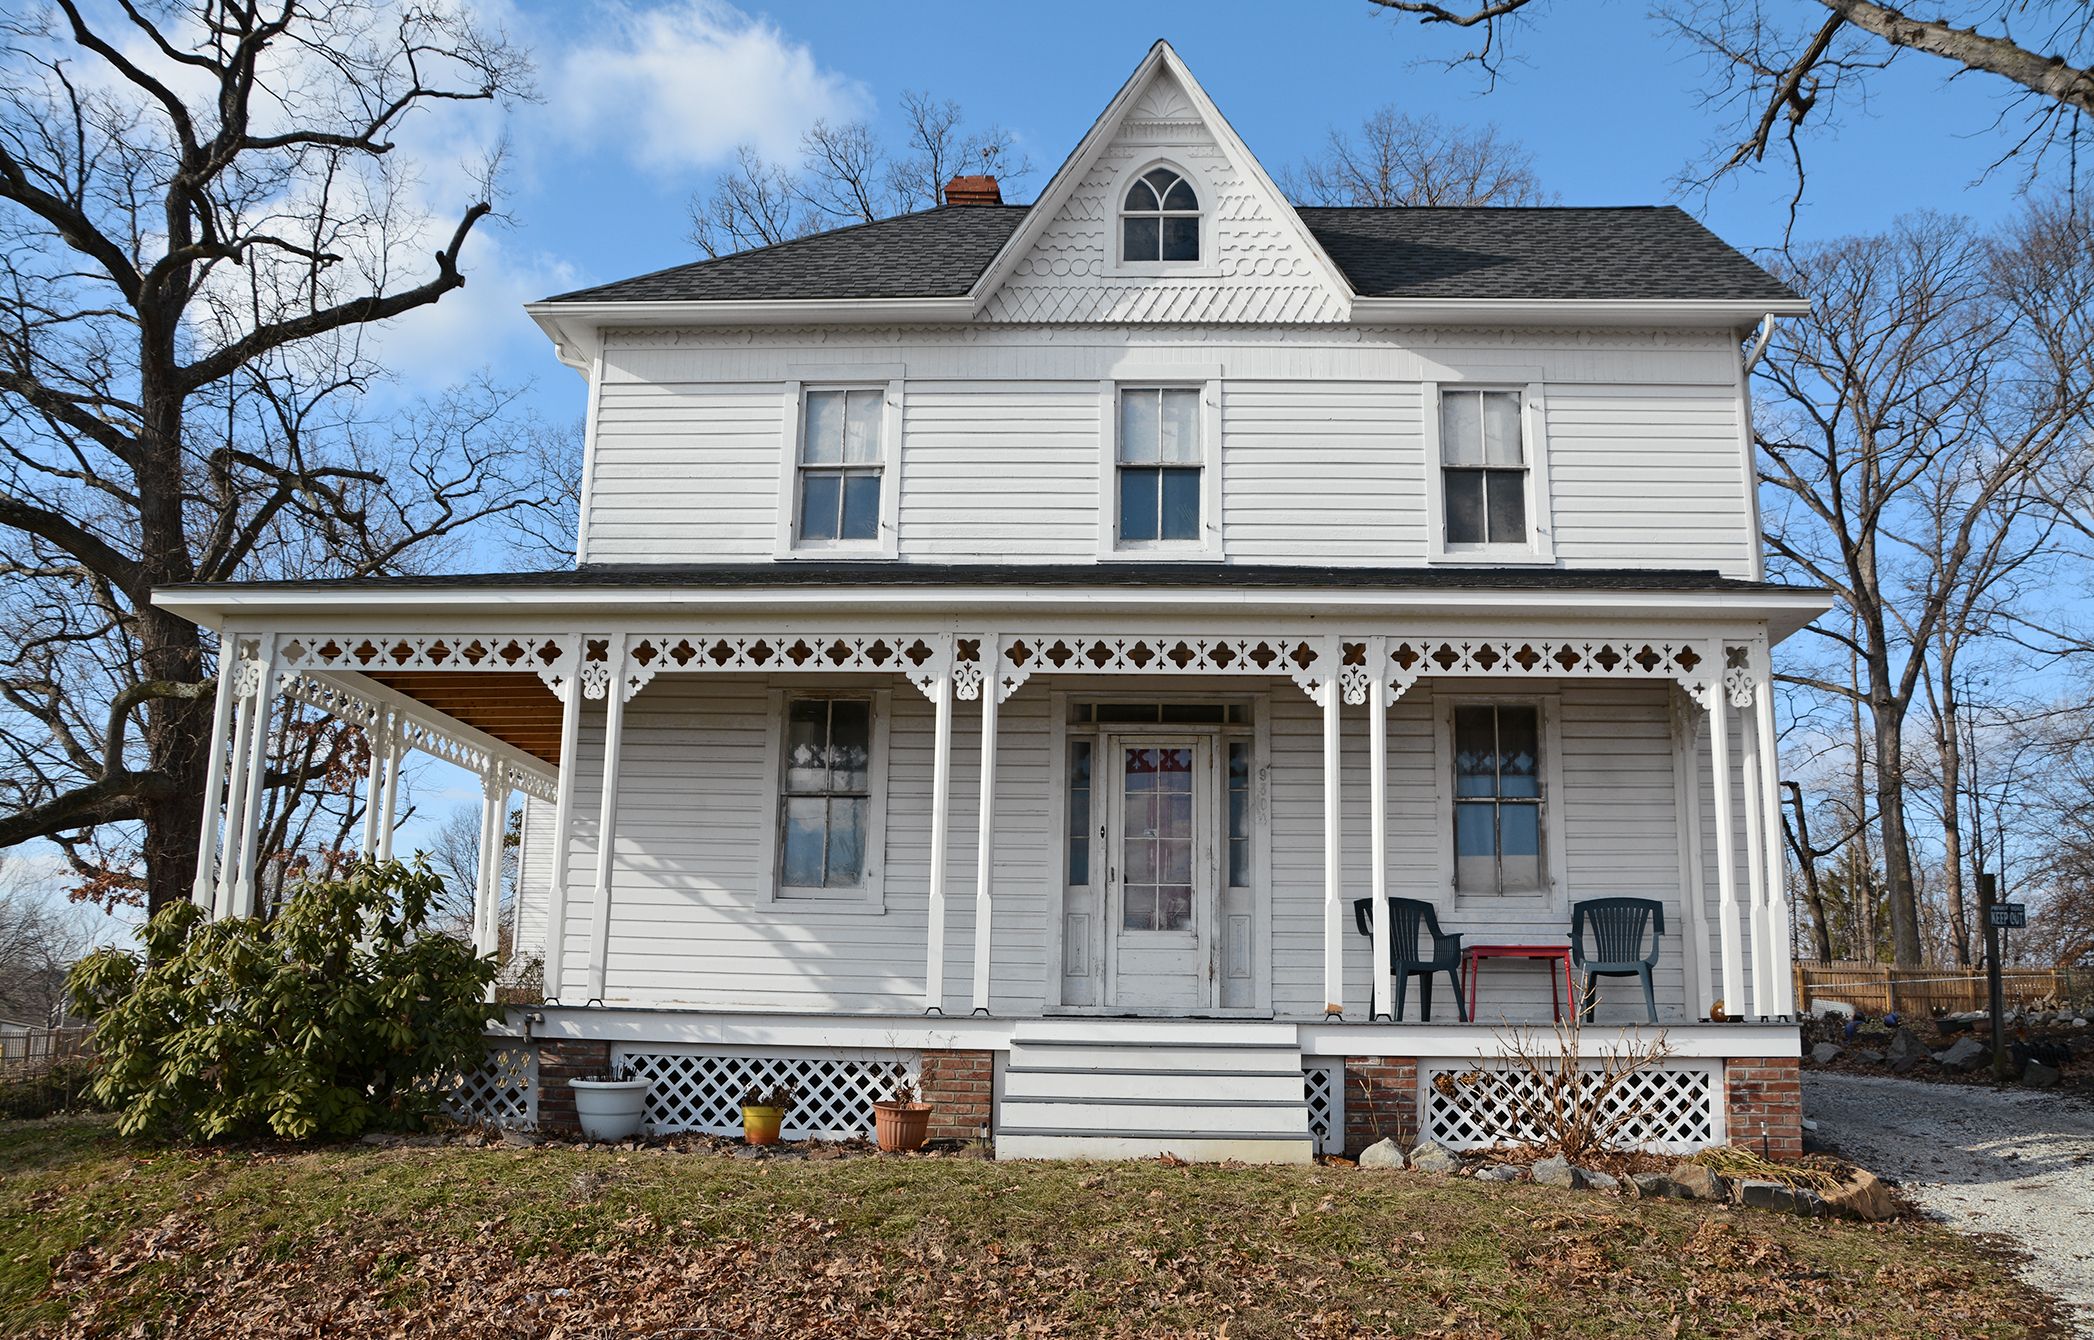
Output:
<path fill-rule="evenodd" d="M 670 1049 L 616 1047 L 611 1070 L 653 1080 L 647 1089 L 647 1129 L 741 1135 L 741 1097 L 750 1089 L 785 1085 L 794 1106 L 785 1139 L 850 1139 L 871 1135 L 873 1101 L 894 1085 L 915 1082 L 921 1057 L 913 1051 L 819 1049 Z"/>

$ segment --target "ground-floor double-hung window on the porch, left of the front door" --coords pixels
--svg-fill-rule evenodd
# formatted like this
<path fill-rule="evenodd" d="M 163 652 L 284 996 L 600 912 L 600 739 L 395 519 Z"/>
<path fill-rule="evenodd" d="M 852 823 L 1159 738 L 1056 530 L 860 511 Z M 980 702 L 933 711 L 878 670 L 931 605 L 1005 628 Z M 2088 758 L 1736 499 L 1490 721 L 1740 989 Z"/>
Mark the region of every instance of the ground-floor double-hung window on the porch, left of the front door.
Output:
<path fill-rule="evenodd" d="M 865 886 L 873 831 L 873 704 L 863 697 L 794 697 L 785 704 L 781 796 L 783 892 Z"/>

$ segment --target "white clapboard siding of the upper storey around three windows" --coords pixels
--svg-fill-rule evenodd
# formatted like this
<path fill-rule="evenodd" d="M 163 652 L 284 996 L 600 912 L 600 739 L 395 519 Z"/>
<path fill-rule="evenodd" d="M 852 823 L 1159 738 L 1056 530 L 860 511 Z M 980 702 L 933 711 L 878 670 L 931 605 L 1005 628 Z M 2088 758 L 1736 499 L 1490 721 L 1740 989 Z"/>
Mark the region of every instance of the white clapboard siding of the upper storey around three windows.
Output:
<path fill-rule="evenodd" d="M 1751 576 L 1736 358 L 1719 333 L 1633 331 L 620 335 L 593 387 L 584 557 L 777 557 L 785 387 L 900 368 L 903 561 L 1095 559 L 1106 387 L 1219 375 L 1227 559 L 1422 563 L 1422 387 L 1466 379 L 1545 387 L 1562 563 Z"/>

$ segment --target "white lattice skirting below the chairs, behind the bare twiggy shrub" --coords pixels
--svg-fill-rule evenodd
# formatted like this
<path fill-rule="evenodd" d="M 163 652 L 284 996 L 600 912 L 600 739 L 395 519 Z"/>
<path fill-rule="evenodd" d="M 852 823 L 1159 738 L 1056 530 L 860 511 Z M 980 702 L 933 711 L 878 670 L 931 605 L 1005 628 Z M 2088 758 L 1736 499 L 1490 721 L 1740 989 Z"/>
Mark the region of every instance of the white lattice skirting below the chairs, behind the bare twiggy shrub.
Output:
<path fill-rule="evenodd" d="M 1629 1076 L 1608 1097 L 1608 1112 L 1625 1114 L 1621 1143 L 1652 1154 L 1692 1154 L 1723 1143 L 1721 1062 L 1671 1059 Z M 1591 1091 L 1598 1070 L 1583 1070 Z M 1480 1149 L 1501 1141 L 1541 1137 L 1533 1110 L 1541 1082 L 1503 1062 L 1420 1059 L 1420 1133 L 1449 1149 Z"/>

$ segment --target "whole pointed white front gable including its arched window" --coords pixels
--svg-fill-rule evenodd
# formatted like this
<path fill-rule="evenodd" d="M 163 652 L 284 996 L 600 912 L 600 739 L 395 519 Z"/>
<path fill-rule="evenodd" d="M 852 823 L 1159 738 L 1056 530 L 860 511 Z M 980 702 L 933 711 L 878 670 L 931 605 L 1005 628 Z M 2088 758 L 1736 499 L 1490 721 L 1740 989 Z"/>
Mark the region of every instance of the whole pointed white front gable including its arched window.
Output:
<path fill-rule="evenodd" d="M 1158 42 L 976 285 L 1005 322 L 1342 322 L 1353 291 Z"/>

